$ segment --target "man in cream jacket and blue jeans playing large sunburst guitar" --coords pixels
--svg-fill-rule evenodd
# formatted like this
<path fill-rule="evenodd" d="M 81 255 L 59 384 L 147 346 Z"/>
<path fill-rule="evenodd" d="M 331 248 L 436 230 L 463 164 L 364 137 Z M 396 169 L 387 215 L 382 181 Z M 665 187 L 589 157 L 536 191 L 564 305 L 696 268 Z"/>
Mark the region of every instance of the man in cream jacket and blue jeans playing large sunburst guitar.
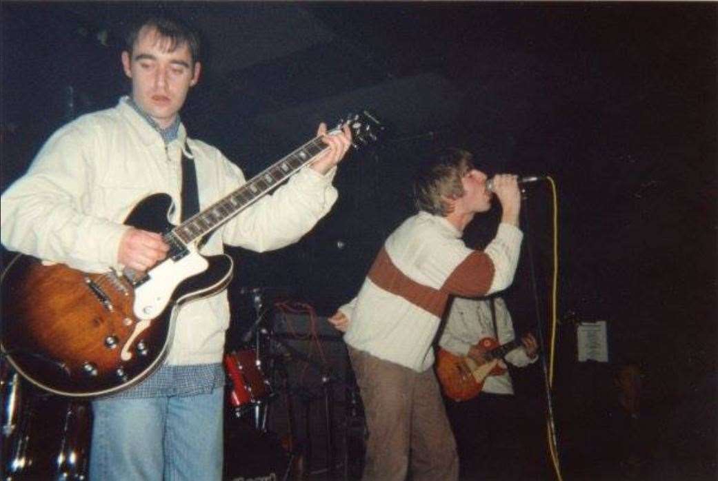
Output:
<path fill-rule="evenodd" d="M 123 72 L 131 83 L 130 95 L 122 97 L 115 108 L 83 115 L 60 128 L 27 174 L 2 196 L 4 247 L 37 258 L 37 262 L 27 263 L 34 271 L 50 262 L 80 272 L 78 276 L 85 282 L 73 292 L 89 296 L 89 301 L 78 306 L 78 318 L 88 309 L 98 313 L 89 316 L 90 323 L 80 334 L 101 331 L 104 340 L 93 344 L 92 351 L 121 353 L 122 363 L 111 370 L 97 361 L 85 361 L 82 368 L 73 370 L 61 356 L 34 356 L 34 346 L 7 349 L 9 355 L 26 353 L 25 358 L 44 361 L 45 370 L 59 367 L 50 381 L 67 378 L 57 390 L 61 393 L 105 394 L 93 400 L 90 480 L 220 480 L 225 384 L 221 361 L 230 318 L 223 288 L 232 267 L 230 258 L 222 254 L 224 244 L 255 251 L 292 244 L 309 232 L 337 199 L 332 179 L 352 136 L 346 126 L 325 135 L 326 126 L 321 124 L 317 148 L 304 156 L 311 166 L 229 219 L 229 214 L 239 213 L 242 199 L 235 196 L 221 205 L 215 202 L 246 184 L 245 177 L 217 148 L 188 138 L 180 120 L 187 93 L 200 78 L 199 53 L 200 37 L 184 22 L 165 16 L 139 19 L 128 32 L 121 54 Z M 297 164 L 299 161 L 288 161 L 281 167 L 291 171 Z M 274 186 L 276 176 L 267 173 L 265 177 L 263 185 Z M 262 189 L 248 192 L 244 201 L 257 199 L 255 191 Z M 179 237 L 174 231 L 170 237 L 137 224 L 123 224 L 131 209 L 138 203 L 145 205 L 143 199 L 171 199 L 172 208 L 154 219 L 174 225 L 187 224 L 192 210 L 202 208 L 207 220 L 195 225 L 194 232 L 212 227 L 214 234 L 195 239 L 194 234 L 185 232 L 180 241 L 180 232 Z M 218 271 L 220 275 L 205 267 L 208 261 L 197 253 L 200 249 L 226 267 Z M 166 292 L 143 286 L 157 279 L 166 281 L 157 282 L 157 287 L 176 281 L 177 266 L 187 266 L 183 273 L 190 273 L 182 277 L 187 279 L 182 285 L 200 288 L 185 296 L 187 305 L 182 310 L 172 303 L 159 305 L 168 314 L 167 322 L 164 318 L 159 322 L 151 303 L 138 312 L 123 308 L 121 300 L 113 302 L 114 294 L 121 292 L 126 292 L 128 299 L 148 291 L 150 299 L 165 299 Z M 200 273 L 202 280 L 210 274 L 215 278 L 200 286 L 195 282 Z M 61 282 L 55 284 L 50 287 L 62 287 Z M 26 302 L 32 290 L 19 289 L 9 290 L 11 295 L 6 298 L 12 298 L 14 304 Z M 65 311 L 57 308 L 55 317 Z M 123 314 L 118 317 L 118 313 Z M 168 333 L 149 334 L 170 323 Z M 4 319 L 4 325 L 8 324 Z M 72 324 L 63 328 L 70 330 Z M 22 334 L 23 328 L 29 334 L 24 325 L 17 325 L 13 332 Z M 73 336 L 47 335 L 42 326 L 39 330 L 39 337 L 56 337 L 53 346 L 73 342 Z M 156 338 L 161 342 L 153 342 Z M 136 376 L 142 382 L 130 387 L 131 363 L 160 352 L 162 356 Z M 147 376 L 154 367 L 157 370 Z M 82 388 L 101 379 L 106 371 L 108 378 L 130 389 L 71 389 L 70 381 L 75 378 L 80 377 Z M 47 386 L 47 382 L 37 384 Z"/>

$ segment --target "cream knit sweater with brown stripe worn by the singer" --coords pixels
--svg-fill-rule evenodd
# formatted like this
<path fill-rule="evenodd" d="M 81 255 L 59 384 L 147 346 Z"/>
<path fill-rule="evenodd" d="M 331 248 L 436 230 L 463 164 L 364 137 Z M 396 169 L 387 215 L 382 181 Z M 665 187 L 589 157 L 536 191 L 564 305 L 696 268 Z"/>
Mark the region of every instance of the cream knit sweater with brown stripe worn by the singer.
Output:
<path fill-rule="evenodd" d="M 422 372 L 449 295 L 477 297 L 513 282 L 523 233 L 500 224 L 483 251 L 466 247 L 442 216 L 419 212 L 386 239 L 359 294 L 340 310 L 344 340 L 372 356 Z"/>

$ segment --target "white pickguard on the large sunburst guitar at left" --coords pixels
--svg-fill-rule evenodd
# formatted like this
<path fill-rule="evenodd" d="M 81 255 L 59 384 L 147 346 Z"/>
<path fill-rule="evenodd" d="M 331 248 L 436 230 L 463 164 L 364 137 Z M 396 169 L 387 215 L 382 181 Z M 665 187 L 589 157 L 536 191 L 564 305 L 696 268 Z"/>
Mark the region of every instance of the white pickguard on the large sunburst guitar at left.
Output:
<path fill-rule="evenodd" d="M 187 277 L 204 272 L 209 267 L 195 247 L 188 247 L 190 253 L 177 261 L 167 259 L 153 267 L 149 280 L 136 287 L 134 294 L 134 315 L 141 320 L 154 319 L 167 308 L 174 288 Z"/>

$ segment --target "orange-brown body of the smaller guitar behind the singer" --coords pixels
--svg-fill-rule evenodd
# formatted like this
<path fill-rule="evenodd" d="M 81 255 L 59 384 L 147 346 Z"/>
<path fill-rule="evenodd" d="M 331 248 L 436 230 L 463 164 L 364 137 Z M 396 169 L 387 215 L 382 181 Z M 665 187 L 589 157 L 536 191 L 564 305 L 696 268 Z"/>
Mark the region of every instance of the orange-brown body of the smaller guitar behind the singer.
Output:
<path fill-rule="evenodd" d="M 500 347 L 494 338 L 482 338 L 478 345 L 487 352 Z M 437 353 L 436 371 L 447 397 L 467 401 L 478 396 L 488 376 L 503 374 L 506 369 L 498 358 L 478 364 L 468 356 L 457 356 L 442 348 Z"/>

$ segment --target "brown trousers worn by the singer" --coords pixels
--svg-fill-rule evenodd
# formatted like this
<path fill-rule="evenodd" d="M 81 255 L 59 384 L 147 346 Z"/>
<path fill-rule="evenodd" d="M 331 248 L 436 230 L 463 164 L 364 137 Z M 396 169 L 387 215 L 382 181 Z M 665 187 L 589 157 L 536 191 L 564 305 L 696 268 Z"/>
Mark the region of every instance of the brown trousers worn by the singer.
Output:
<path fill-rule="evenodd" d="M 417 373 L 348 347 L 369 429 L 363 481 L 454 481 L 459 458 L 434 369 Z"/>

